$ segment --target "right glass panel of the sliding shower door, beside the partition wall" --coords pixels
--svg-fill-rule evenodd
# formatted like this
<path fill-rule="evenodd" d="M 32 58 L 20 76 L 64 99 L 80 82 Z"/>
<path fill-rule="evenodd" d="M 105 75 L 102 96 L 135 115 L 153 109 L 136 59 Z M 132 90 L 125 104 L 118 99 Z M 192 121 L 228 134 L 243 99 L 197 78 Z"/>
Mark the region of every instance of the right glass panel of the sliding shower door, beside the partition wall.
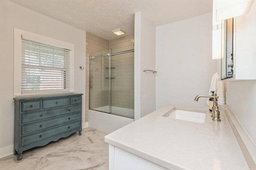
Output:
<path fill-rule="evenodd" d="M 111 113 L 134 118 L 134 46 L 112 49 Z"/>

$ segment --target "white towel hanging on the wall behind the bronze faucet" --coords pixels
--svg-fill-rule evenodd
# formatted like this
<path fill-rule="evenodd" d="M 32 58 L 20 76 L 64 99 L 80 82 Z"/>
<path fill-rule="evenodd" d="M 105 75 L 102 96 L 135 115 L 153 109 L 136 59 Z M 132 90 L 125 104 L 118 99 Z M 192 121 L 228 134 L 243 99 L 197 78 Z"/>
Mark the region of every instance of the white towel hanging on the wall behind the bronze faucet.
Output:
<path fill-rule="evenodd" d="M 225 104 L 225 84 L 220 80 L 220 76 L 217 72 L 212 76 L 209 95 L 212 95 L 212 92 L 215 92 L 217 96 L 219 96 L 218 104 Z M 209 105 L 209 100 L 207 100 L 207 104 Z"/>

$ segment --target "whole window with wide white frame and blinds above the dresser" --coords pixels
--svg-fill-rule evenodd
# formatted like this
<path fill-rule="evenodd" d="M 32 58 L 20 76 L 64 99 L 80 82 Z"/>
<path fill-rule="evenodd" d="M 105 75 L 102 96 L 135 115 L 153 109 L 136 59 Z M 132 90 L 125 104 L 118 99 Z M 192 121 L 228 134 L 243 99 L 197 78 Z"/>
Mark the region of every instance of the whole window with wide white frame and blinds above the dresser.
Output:
<path fill-rule="evenodd" d="M 14 29 L 14 96 L 74 92 L 74 45 Z"/>

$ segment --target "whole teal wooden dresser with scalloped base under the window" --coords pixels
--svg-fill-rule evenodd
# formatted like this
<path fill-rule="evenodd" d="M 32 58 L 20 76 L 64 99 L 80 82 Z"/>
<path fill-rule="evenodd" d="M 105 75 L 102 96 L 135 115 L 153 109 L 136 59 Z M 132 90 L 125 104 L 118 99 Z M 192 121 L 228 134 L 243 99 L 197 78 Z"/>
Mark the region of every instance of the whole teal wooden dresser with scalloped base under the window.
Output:
<path fill-rule="evenodd" d="M 82 94 L 14 98 L 14 154 L 82 131 Z"/>

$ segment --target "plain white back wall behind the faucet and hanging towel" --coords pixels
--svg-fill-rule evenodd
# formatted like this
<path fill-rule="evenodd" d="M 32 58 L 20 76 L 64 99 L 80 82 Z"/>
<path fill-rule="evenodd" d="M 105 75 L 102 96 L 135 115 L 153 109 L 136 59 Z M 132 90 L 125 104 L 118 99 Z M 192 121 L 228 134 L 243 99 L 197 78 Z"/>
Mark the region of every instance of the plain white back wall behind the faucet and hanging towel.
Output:
<path fill-rule="evenodd" d="M 205 107 L 217 62 L 212 60 L 212 13 L 156 27 L 156 108 Z"/>

